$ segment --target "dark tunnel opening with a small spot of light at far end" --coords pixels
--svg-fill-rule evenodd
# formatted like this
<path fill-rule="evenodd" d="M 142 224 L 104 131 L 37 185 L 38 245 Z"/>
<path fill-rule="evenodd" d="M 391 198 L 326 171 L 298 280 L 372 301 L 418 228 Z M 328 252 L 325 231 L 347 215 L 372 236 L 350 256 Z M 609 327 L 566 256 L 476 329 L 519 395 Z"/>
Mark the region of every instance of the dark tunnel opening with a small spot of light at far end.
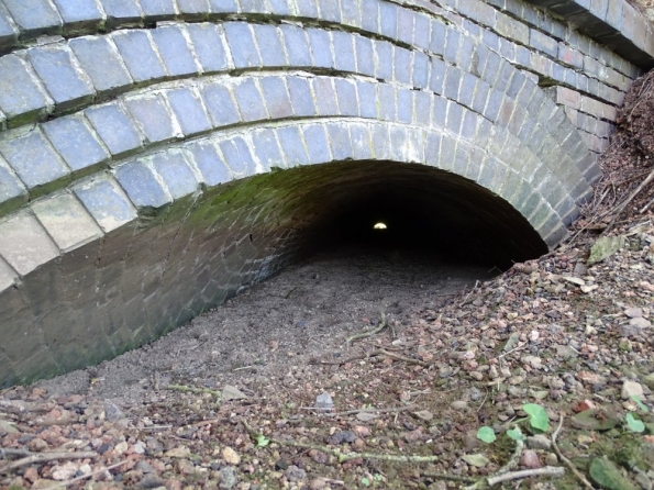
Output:
<path fill-rule="evenodd" d="M 311 215 L 302 256 L 402 252 L 499 272 L 547 252 L 524 216 L 464 177 L 392 162 L 326 167 L 336 174 L 309 177 L 313 185 L 297 202 Z"/>

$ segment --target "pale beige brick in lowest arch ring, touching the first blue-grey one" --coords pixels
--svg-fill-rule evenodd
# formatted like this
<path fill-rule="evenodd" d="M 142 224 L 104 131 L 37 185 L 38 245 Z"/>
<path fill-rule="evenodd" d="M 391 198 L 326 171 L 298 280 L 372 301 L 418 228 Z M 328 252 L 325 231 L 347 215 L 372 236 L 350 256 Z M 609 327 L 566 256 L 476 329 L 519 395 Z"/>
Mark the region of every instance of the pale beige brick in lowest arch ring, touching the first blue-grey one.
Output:
<path fill-rule="evenodd" d="M 102 236 L 96 221 L 73 194 L 35 201 L 32 210 L 62 252 L 79 248 Z"/>

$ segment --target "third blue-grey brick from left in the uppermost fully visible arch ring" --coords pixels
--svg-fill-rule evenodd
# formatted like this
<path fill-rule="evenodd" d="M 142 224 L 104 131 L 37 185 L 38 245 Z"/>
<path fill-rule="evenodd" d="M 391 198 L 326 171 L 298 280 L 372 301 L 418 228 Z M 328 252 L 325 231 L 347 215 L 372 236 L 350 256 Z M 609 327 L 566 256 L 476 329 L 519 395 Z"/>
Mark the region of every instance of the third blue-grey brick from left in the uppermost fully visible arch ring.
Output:
<path fill-rule="evenodd" d="M 68 42 L 68 46 L 98 93 L 113 96 L 134 82 L 115 46 L 107 37 L 76 37 Z"/>

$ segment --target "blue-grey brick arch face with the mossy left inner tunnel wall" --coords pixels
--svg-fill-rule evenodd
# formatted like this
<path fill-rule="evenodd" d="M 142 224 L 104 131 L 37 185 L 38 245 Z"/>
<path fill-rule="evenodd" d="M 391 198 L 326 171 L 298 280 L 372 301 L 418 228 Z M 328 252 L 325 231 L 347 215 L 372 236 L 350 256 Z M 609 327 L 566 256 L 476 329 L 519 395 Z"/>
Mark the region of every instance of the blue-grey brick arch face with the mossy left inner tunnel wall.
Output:
<path fill-rule="evenodd" d="M 484 189 L 554 247 L 653 52 L 638 15 L 613 36 L 622 57 L 556 15 L 3 0 L 0 386 L 118 355 L 265 279 L 320 214 L 311 189 L 388 163 Z"/>

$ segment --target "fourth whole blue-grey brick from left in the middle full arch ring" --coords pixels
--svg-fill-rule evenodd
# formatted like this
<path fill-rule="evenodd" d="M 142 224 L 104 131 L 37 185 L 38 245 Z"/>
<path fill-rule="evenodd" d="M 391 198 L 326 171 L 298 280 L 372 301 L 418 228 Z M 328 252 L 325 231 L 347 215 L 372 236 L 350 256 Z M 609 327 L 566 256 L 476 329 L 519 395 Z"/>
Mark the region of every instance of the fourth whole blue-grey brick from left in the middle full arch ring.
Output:
<path fill-rule="evenodd" d="M 164 143 L 181 136 L 162 96 L 133 97 L 124 103 L 149 143 Z"/>

